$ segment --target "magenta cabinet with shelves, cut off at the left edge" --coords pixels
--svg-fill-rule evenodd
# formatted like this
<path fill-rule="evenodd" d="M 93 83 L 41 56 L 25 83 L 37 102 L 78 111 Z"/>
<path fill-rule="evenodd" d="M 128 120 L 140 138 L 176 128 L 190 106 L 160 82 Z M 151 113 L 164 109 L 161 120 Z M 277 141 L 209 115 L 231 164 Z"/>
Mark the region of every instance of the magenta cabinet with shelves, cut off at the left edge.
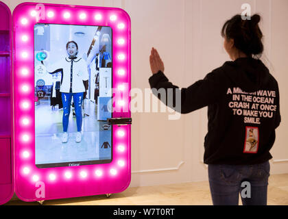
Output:
<path fill-rule="evenodd" d="M 14 193 L 11 144 L 11 20 L 10 9 L 0 1 L 0 205 Z"/>

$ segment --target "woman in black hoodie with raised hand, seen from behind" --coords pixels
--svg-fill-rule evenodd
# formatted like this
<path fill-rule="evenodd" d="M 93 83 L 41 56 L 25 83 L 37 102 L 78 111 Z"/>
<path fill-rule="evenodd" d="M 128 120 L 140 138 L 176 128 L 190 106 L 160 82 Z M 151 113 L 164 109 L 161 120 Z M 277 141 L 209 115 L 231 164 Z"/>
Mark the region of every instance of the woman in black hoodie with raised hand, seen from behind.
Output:
<path fill-rule="evenodd" d="M 156 49 L 152 48 L 149 57 L 153 74 L 149 85 L 155 88 L 152 92 L 161 99 L 158 90 L 170 88 L 173 103 L 177 103 L 176 94 L 181 94 L 181 104 L 174 107 L 172 101 L 163 101 L 165 104 L 182 114 L 208 106 L 204 163 L 208 164 L 214 205 L 238 205 L 239 194 L 243 205 L 267 205 L 269 159 L 272 159 L 269 150 L 281 117 L 278 82 L 259 59 L 264 49 L 260 20 L 258 14 L 246 20 L 237 14 L 226 21 L 221 36 L 232 61 L 225 62 L 188 88 L 180 90 L 169 82 Z M 165 98 L 171 96 L 166 94 Z M 245 150 L 249 144 L 247 135 L 251 133 L 246 132 L 248 129 L 259 130 L 259 134 L 254 135 L 257 150 Z M 244 181 L 250 183 L 250 196 L 242 195 Z"/>

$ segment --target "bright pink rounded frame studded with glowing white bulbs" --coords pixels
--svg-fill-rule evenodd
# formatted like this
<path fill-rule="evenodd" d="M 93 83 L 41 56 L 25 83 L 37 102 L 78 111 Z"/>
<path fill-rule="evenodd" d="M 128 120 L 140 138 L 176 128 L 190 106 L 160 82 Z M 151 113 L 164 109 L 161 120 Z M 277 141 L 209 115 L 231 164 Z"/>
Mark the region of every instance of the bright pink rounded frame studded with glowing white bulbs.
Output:
<path fill-rule="evenodd" d="M 130 17 L 119 8 L 21 3 L 12 15 L 14 42 L 14 183 L 23 201 L 122 192 L 130 184 L 130 125 L 112 125 L 112 162 L 37 168 L 35 165 L 34 25 L 94 25 L 112 28 L 113 118 L 130 118 Z"/>

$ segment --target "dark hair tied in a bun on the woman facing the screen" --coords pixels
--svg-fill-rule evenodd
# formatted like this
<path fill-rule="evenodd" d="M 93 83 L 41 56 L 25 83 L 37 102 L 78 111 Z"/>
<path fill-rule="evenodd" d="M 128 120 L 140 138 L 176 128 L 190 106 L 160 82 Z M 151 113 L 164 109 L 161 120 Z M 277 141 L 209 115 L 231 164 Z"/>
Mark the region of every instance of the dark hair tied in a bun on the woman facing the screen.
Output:
<path fill-rule="evenodd" d="M 221 29 L 221 36 L 228 40 L 233 39 L 237 49 L 248 56 L 261 56 L 264 50 L 263 34 L 258 23 L 261 20 L 259 14 L 254 14 L 250 20 L 243 20 L 237 14 L 224 23 Z"/>

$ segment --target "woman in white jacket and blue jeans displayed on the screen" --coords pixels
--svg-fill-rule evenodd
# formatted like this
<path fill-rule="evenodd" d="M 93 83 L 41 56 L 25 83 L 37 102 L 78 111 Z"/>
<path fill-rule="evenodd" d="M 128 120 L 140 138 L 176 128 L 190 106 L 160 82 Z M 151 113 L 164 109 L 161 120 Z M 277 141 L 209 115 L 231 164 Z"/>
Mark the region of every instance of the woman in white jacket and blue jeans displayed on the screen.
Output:
<path fill-rule="evenodd" d="M 75 116 L 77 123 L 76 142 L 82 140 L 82 102 L 84 92 L 88 89 L 88 70 L 86 61 L 77 57 L 78 45 L 75 41 L 69 41 L 66 44 L 67 57 L 61 58 L 58 62 L 47 66 L 50 74 L 62 73 L 60 92 L 63 103 L 63 134 L 62 143 L 67 143 L 69 135 L 67 133 L 69 124 L 69 115 L 71 110 L 71 99 L 75 106 Z"/>

